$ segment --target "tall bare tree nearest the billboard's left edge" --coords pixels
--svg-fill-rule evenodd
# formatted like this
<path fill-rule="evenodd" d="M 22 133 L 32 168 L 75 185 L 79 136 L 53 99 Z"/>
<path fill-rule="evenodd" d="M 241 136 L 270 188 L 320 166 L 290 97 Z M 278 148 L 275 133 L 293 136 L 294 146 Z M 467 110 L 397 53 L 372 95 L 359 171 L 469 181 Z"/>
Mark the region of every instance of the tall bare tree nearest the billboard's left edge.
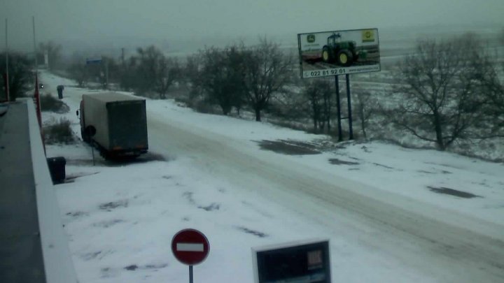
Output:
<path fill-rule="evenodd" d="M 279 45 L 266 38 L 251 50 L 242 52 L 246 58 L 244 85 L 246 98 L 255 112 L 255 120 L 261 120 L 272 94 L 280 92 L 290 78 L 293 57 L 285 55 Z"/>

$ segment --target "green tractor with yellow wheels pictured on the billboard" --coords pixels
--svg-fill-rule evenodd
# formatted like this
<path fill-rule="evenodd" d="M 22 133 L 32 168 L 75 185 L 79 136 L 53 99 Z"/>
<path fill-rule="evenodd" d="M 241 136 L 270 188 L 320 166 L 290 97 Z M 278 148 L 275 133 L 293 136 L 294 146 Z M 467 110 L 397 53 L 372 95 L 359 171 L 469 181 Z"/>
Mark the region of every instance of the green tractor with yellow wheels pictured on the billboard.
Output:
<path fill-rule="evenodd" d="M 358 51 L 355 41 L 340 41 L 341 34 L 328 37 L 328 44 L 322 48 L 322 61 L 339 66 L 351 66 L 359 57 L 365 57 L 365 52 Z"/>

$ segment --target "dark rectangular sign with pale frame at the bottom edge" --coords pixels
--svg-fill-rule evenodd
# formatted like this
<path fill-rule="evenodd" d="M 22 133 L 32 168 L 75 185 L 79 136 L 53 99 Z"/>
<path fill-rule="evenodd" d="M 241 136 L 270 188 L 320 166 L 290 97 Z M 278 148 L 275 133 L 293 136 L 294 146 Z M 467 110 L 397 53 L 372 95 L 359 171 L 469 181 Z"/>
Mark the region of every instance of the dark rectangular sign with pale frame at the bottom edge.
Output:
<path fill-rule="evenodd" d="M 330 283 L 329 240 L 253 248 L 256 283 Z"/>

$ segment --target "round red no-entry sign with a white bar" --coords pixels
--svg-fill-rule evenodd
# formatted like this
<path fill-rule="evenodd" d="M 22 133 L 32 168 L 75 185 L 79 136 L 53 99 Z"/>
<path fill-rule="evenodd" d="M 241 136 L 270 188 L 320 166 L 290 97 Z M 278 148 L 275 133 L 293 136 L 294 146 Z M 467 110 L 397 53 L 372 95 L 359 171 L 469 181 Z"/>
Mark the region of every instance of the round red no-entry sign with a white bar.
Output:
<path fill-rule="evenodd" d="M 188 266 L 201 263 L 210 251 L 207 237 L 195 229 L 184 229 L 174 235 L 172 252 L 176 259 Z"/>

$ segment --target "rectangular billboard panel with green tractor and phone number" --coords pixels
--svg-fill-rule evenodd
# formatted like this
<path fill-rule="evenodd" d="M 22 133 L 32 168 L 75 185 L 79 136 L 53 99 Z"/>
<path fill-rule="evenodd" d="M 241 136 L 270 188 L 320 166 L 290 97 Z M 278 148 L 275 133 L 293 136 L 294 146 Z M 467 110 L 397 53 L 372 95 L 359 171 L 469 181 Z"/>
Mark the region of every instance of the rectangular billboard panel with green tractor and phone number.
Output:
<path fill-rule="evenodd" d="M 301 78 L 380 71 L 378 29 L 297 34 Z"/>

